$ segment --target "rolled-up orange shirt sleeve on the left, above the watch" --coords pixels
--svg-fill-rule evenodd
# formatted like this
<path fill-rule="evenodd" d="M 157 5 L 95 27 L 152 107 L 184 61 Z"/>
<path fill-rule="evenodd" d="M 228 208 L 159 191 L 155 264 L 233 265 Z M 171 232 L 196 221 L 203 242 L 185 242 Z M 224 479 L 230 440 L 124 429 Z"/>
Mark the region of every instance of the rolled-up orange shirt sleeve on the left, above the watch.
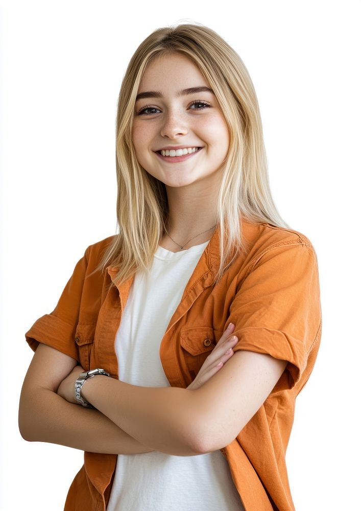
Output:
<path fill-rule="evenodd" d="M 87 250 L 76 264 L 54 311 L 41 316 L 26 332 L 25 338 L 34 352 L 41 342 L 79 362 L 75 332 L 88 265 Z"/>

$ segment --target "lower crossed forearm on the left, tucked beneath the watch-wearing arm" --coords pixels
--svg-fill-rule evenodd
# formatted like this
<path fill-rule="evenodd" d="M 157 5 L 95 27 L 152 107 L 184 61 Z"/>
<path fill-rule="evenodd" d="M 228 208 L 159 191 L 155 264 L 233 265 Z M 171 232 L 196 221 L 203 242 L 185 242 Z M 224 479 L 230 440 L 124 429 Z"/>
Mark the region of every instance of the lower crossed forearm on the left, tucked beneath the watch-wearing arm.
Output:
<path fill-rule="evenodd" d="M 68 403 L 44 388 L 36 389 L 31 399 L 20 399 L 20 424 L 21 434 L 30 442 L 49 442 L 106 454 L 138 454 L 153 450 L 99 410 Z"/>

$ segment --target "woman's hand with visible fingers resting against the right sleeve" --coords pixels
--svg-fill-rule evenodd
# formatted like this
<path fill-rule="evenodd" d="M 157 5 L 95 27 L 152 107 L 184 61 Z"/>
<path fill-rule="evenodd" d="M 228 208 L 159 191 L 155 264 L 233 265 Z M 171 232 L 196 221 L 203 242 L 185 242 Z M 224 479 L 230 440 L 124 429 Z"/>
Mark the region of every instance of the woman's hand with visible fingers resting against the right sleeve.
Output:
<path fill-rule="evenodd" d="M 196 390 L 197 388 L 204 385 L 205 382 L 212 378 L 215 373 L 218 373 L 224 364 L 232 357 L 232 347 L 238 342 L 238 337 L 233 339 L 233 335 L 231 335 L 233 330 L 234 324 L 230 324 L 228 328 L 226 328 L 222 337 L 210 352 L 210 355 L 208 355 L 208 357 L 205 359 L 202 367 L 198 372 L 198 375 L 192 381 L 192 383 L 188 385 L 188 389 Z M 229 348 L 231 351 L 229 353 L 225 353 Z"/>

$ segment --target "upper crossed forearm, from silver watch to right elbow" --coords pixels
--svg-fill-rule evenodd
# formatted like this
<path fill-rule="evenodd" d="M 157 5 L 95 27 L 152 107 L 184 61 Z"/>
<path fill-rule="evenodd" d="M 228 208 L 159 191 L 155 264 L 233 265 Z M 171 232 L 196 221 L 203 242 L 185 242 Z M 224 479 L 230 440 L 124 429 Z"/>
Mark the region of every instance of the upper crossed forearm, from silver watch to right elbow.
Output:
<path fill-rule="evenodd" d="M 176 456 L 200 454 L 196 391 L 140 387 L 104 376 L 89 378 L 83 398 L 119 428 L 154 450 Z"/>

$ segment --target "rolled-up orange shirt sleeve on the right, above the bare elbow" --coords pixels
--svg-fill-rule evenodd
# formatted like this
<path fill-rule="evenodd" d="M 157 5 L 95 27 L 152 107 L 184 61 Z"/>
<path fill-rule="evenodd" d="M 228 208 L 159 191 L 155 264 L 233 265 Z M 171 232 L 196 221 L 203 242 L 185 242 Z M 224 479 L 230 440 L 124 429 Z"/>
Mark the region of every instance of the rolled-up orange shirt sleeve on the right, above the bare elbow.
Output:
<path fill-rule="evenodd" d="M 288 361 L 288 388 L 300 380 L 321 328 L 317 256 L 307 244 L 271 247 L 250 265 L 230 307 L 238 342 Z"/>

